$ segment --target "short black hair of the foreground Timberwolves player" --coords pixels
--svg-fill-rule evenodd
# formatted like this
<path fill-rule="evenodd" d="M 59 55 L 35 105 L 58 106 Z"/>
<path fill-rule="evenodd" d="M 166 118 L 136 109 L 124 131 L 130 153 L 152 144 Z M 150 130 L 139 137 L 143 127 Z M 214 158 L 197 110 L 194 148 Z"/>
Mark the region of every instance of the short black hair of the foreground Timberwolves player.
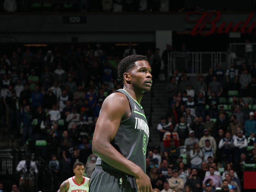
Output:
<path fill-rule="evenodd" d="M 134 66 L 136 61 L 148 61 L 147 57 L 144 55 L 129 55 L 121 60 L 118 65 L 118 76 L 124 80 L 124 73 L 129 72 Z"/>

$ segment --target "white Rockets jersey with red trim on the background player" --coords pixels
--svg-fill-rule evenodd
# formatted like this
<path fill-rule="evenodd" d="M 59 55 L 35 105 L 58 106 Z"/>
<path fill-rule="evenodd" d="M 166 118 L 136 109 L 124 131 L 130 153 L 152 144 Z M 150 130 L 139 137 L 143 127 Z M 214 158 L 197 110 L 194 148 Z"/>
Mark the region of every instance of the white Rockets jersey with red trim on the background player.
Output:
<path fill-rule="evenodd" d="M 69 189 L 68 192 L 89 192 L 90 178 L 83 177 L 83 182 L 78 184 L 75 181 L 75 176 L 68 178 Z"/>

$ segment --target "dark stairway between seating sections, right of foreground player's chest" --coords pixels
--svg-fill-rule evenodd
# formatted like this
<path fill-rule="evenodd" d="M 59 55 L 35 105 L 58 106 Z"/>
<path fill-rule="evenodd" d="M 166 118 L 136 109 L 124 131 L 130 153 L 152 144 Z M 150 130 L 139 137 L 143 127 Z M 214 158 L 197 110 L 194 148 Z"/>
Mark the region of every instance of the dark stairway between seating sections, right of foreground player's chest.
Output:
<path fill-rule="evenodd" d="M 141 100 L 141 105 L 144 109 L 145 115 L 148 120 L 148 126 L 150 127 L 150 141 L 148 143 L 149 148 L 155 146 L 160 147 L 159 134 L 157 131 L 157 124 L 160 122 L 159 118 L 165 116 L 168 108 L 168 98 L 166 95 L 166 82 L 153 83 L 151 92 L 146 92 Z M 150 124 L 150 105 L 151 105 L 151 94 L 152 97 L 152 114 Z"/>

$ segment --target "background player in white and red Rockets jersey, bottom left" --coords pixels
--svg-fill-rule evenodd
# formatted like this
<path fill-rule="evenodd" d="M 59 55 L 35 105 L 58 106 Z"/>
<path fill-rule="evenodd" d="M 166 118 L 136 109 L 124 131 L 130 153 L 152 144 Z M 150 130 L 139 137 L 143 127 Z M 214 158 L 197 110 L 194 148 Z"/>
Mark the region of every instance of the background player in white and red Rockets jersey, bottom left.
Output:
<path fill-rule="evenodd" d="M 61 183 L 57 192 L 89 192 L 90 178 L 84 177 L 84 164 L 76 162 L 73 166 L 73 172 L 75 176 Z"/>

